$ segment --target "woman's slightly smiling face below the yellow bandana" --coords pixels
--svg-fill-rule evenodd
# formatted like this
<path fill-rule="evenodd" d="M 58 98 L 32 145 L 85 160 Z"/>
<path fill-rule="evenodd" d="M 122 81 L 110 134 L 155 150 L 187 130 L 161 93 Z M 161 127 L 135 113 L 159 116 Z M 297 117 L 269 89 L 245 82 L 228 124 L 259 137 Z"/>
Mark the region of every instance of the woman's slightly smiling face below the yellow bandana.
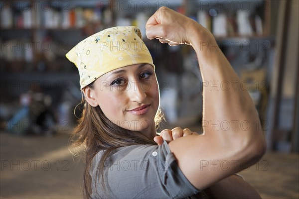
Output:
<path fill-rule="evenodd" d="M 93 93 L 113 123 L 133 131 L 153 130 L 159 89 L 151 65 L 135 64 L 108 72 L 95 81 Z"/>

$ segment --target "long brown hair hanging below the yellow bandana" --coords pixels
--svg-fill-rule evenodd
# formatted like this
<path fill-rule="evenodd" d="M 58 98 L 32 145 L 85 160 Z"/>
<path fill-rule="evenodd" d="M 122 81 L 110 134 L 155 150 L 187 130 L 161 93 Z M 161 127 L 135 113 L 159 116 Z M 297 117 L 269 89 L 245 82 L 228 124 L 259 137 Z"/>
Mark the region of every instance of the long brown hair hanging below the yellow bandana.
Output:
<path fill-rule="evenodd" d="M 93 83 L 89 85 L 93 88 Z M 102 150 L 105 150 L 103 156 L 99 162 L 97 168 L 98 172 L 101 172 L 102 182 L 104 182 L 104 164 L 109 154 L 119 147 L 131 146 L 137 144 L 151 144 L 156 143 L 147 137 L 146 135 L 137 131 L 131 131 L 121 126 L 114 124 L 110 121 L 102 109 L 97 106 L 93 107 L 83 99 L 82 104 L 84 108 L 81 117 L 78 120 L 77 126 L 74 128 L 69 146 L 78 147 L 83 146 L 85 151 L 85 171 L 83 175 L 83 195 L 84 198 L 91 198 L 91 176 L 89 171 L 92 165 L 92 159 L 95 155 Z M 154 117 L 156 129 L 159 128 L 159 123 L 164 120 L 165 117 L 158 108 L 158 111 Z M 102 183 L 102 189 L 105 191 L 105 184 Z"/>

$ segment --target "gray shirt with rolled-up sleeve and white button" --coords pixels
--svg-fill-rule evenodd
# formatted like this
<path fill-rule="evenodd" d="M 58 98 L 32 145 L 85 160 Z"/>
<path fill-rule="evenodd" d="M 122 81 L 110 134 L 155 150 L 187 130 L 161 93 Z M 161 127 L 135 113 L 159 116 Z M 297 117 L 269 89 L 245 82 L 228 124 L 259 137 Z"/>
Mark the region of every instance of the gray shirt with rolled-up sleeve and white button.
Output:
<path fill-rule="evenodd" d="M 104 167 L 106 192 L 101 173 L 96 175 L 102 155 L 100 151 L 94 157 L 90 169 L 93 199 L 207 198 L 183 175 L 165 141 L 161 146 L 133 145 L 112 152 Z"/>

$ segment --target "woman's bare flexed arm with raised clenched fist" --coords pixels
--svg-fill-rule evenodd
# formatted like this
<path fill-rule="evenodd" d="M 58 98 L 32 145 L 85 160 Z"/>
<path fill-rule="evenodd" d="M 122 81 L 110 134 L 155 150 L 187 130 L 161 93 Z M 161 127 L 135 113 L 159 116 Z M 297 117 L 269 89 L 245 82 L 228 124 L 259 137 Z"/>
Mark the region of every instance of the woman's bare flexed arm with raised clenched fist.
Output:
<path fill-rule="evenodd" d="M 214 36 L 167 7 L 160 7 L 146 28 L 149 39 L 189 44 L 197 54 L 203 79 L 204 134 L 169 143 L 186 178 L 204 189 L 256 163 L 266 149 L 258 113 Z"/>

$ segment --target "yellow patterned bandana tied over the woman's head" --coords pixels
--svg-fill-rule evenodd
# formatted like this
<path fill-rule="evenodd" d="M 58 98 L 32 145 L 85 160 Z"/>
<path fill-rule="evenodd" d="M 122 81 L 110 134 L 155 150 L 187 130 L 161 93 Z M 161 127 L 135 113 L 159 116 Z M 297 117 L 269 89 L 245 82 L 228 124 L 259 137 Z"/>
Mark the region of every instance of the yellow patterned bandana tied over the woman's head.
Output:
<path fill-rule="evenodd" d="M 154 69 L 149 49 L 135 26 L 112 27 L 93 34 L 79 42 L 66 57 L 78 68 L 81 90 L 121 67 L 146 63 Z"/>

